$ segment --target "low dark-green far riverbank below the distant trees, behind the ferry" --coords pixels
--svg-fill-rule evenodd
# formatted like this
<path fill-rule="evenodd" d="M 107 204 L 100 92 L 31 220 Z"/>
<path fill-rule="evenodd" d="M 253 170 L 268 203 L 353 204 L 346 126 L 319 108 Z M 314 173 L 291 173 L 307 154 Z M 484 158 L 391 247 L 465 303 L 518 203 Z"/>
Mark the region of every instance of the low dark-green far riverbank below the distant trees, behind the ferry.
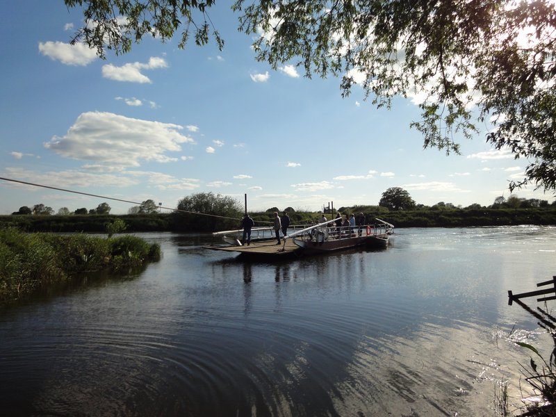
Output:
<path fill-rule="evenodd" d="M 514 226 L 518 224 L 556 225 L 556 207 L 545 208 L 450 208 L 412 211 L 362 210 L 369 222 L 381 218 L 395 227 L 481 227 Z M 342 213 L 359 213 L 355 207 Z M 256 226 L 272 224 L 273 212 L 250 212 Z M 320 214 L 309 211 L 288 213 L 292 224 L 310 224 L 320 219 Z M 334 213 L 326 213 L 329 218 Z M 115 219 L 124 221 L 126 231 L 200 231 L 211 233 L 240 228 L 241 213 L 237 221 L 218 219 L 207 222 L 201 214 L 154 213 L 146 215 L 1 215 L 0 229 L 16 227 L 22 231 L 88 232 L 104 233 L 106 223 Z M 203 220 L 202 222 L 199 219 Z"/>

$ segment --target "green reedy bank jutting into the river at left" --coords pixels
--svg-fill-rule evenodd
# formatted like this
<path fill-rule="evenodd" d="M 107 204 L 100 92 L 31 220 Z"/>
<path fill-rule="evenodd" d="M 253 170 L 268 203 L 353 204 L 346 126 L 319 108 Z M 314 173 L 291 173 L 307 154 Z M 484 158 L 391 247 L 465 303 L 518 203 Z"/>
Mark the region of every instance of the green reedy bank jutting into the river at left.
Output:
<path fill-rule="evenodd" d="M 66 281 L 79 272 L 119 270 L 160 257 L 160 246 L 136 236 L 102 238 L 0 229 L 0 304 Z"/>

